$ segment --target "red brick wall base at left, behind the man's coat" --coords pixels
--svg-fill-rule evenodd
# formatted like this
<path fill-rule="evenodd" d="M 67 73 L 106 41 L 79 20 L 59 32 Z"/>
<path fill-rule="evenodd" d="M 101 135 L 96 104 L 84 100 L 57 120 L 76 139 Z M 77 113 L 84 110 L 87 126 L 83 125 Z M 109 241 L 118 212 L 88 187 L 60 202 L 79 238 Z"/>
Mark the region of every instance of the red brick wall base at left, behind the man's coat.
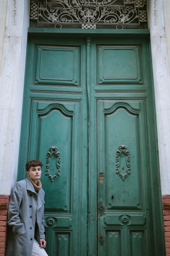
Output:
<path fill-rule="evenodd" d="M 0 196 L 0 256 L 5 256 L 9 196 Z"/>

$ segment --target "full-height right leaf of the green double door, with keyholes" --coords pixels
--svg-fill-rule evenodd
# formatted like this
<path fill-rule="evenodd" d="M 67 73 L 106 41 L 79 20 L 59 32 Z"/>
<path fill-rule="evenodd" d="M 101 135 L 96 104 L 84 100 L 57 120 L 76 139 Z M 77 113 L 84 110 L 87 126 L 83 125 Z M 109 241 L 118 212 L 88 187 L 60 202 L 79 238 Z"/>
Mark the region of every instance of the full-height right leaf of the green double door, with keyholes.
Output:
<path fill-rule="evenodd" d="M 148 46 L 144 40 L 96 39 L 91 48 L 96 53 L 98 256 L 159 256 L 165 252 L 154 238 L 158 166 Z"/>

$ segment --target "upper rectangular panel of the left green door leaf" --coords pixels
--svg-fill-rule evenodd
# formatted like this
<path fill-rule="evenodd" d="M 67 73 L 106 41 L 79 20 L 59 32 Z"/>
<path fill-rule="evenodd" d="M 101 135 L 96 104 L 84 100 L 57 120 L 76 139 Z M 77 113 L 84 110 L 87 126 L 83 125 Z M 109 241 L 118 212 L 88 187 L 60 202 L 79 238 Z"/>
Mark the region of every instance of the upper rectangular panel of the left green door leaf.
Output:
<path fill-rule="evenodd" d="M 80 47 L 37 45 L 36 58 L 35 84 L 79 86 Z"/>

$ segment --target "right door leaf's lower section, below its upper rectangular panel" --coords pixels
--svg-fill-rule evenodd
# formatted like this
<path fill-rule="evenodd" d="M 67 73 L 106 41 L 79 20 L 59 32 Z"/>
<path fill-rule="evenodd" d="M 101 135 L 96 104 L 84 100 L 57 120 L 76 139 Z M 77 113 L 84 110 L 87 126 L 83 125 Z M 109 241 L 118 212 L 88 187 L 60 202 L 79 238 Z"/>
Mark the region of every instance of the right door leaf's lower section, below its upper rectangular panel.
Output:
<path fill-rule="evenodd" d="M 142 255 L 153 254 L 145 104 L 144 100 L 134 99 L 99 100 L 97 104 L 99 236 L 117 239 L 119 245 L 116 249 L 106 245 L 106 255 L 114 254 L 118 248 L 121 248 L 118 255 L 135 255 L 133 251 L 144 241 Z M 104 240 L 99 240 L 102 249 L 103 243 Z M 99 255 L 105 255 L 102 249 Z"/>

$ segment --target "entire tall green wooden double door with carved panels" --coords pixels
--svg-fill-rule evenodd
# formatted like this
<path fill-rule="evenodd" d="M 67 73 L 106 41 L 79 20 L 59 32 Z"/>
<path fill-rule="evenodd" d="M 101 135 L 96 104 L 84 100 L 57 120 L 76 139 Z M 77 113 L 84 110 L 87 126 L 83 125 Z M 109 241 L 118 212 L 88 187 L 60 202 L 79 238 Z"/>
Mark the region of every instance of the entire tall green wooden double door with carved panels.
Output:
<path fill-rule="evenodd" d="M 44 163 L 49 256 L 165 255 L 149 56 L 147 35 L 29 38 L 20 168 Z"/>

